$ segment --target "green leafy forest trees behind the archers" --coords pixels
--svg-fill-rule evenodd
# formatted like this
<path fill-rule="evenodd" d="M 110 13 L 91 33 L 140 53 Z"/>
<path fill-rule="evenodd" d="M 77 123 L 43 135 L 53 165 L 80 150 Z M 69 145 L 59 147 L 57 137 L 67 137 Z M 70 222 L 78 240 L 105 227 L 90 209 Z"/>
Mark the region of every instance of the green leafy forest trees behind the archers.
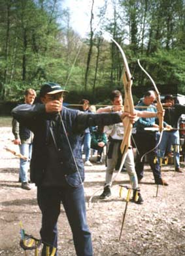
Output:
<path fill-rule="evenodd" d="M 138 58 L 161 93 L 185 94 L 185 1 L 112 0 L 111 18 L 106 0 L 94 17 L 94 1 L 82 37 L 61 0 L 0 0 L 0 106 L 20 102 L 26 88 L 39 92 L 44 81 L 65 87 L 71 104 L 109 104 L 112 89 L 124 93 L 124 63 L 104 32 L 126 53 L 135 102 L 151 87 Z"/>

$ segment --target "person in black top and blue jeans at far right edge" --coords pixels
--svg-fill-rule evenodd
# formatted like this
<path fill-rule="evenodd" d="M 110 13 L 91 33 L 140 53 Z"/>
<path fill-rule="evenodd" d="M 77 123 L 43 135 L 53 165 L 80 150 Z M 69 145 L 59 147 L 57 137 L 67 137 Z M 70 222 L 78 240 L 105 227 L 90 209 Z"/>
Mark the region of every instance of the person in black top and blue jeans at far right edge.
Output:
<path fill-rule="evenodd" d="M 178 119 L 182 114 L 185 114 L 185 106 L 181 104 L 175 104 L 175 100 L 172 95 L 166 95 L 164 98 L 163 106 L 167 107 L 165 109 L 164 120 L 175 129 L 169 131 L 163 131 L 163 136 L 159 146 L 160 157 L 165 155 L 165 150 L 168 144 L 174 146 L 175 150 L 173 152 L 174 162 L 175 162 L 175 171 L 182 173 L 180 168 L 180 137 L 178 127 Z M 170 148 L 171 148 L 170 146 Z M 168 150 L 169 151 L 169 150 Z"/>

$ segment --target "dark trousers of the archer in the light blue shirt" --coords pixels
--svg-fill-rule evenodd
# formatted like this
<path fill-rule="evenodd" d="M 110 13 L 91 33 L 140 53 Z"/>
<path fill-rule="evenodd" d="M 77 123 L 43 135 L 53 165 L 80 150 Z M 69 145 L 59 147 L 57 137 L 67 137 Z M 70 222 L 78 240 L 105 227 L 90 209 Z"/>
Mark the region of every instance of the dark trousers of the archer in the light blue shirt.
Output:
<path fill-rule="evenodd" d="M 142 179 L 144 176 L 144 158 L 141 161 L 142 156 L 156 146 L 159 139 L 159 134 L 156 132 L 137 132 L 135 134 L 135 144 L 138 152 L 135 163 L 135 171 L 137 178 Z M 161 179 L 161 169 L 158 161 L 158 148 L 147 154 L 150 167 L 154 174 L 154 180 L 157 182 Z"/>

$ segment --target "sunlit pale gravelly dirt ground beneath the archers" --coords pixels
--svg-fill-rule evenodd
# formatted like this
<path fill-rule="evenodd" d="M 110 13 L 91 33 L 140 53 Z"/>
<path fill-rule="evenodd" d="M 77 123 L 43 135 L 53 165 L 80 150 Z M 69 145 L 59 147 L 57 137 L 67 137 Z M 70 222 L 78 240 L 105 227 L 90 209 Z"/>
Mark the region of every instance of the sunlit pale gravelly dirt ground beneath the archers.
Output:
<path fill-rule="evenodd" d="M 18 183 L 19 159 L 3 149 L 4 146 L 18 151 L 11 142 L 10 127 L 0 127 L 0 255 L 25 255 L 20 247 L 20 221 L 25 232 L 39 238 L 41 213 L 37 206 L 34 184 L 32 189 L 22 190 Z M 184 168 L 184 163 L 182 163 Z M 184 168 L 185 169 L 185 168 Z M 99 191 L 88 206 L 90 196 L 105 181 L 105 165 L 93 163 L 86 167 L 84 189 L 87 202 L 87 217 L 92 232 L 95 256 L 134 256 L 134 255 L 185 255 L 185 179 L 184 173 L 175 173 L 173 165 L 162 167 L 162 175 L 169 186 L 157 186 L 150 167 L 146 165 L 144 179 L 140 185 L 144 199 L 143 205 L 129 202 L 126 221 L 122 232 L 120 228 L 126 200 L 119 197 L 119 184 L 129 184 L 127 173 L 121 173 L 112 187 L 112 196 L 99 200 Z M 126 191 L 124 192 L 126 196 Z M 63 206 L 58 221 L 58 255 L 73 256 L 75 250 L 69 224 Z M 40 250 L 41 251 L 41 250 Z M 34 251 L 27 252 L 34 255 Z"/>

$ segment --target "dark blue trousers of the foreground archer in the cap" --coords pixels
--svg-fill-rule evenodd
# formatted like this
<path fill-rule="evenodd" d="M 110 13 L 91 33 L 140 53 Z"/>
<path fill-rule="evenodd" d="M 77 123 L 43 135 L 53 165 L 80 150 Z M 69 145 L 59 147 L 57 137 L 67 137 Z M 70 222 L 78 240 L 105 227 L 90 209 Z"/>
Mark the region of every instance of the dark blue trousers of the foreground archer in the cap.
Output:
<path fill-rule="evenodd" d="M 37 189 L 37 200 L 42 211 L 41 238 L 44 244 L 42 255 L 45 256 L 46 245 L 49 245 L 51 249 L 57 247 L 57 222 L 62 202 L 73 232 L 76 255 L 92 256 L 92 239 L 86 222 L 83 186 L 80 185 L 78 188 L 74 188 L 66 184 L 59 188 L 39 187 Z"/>

